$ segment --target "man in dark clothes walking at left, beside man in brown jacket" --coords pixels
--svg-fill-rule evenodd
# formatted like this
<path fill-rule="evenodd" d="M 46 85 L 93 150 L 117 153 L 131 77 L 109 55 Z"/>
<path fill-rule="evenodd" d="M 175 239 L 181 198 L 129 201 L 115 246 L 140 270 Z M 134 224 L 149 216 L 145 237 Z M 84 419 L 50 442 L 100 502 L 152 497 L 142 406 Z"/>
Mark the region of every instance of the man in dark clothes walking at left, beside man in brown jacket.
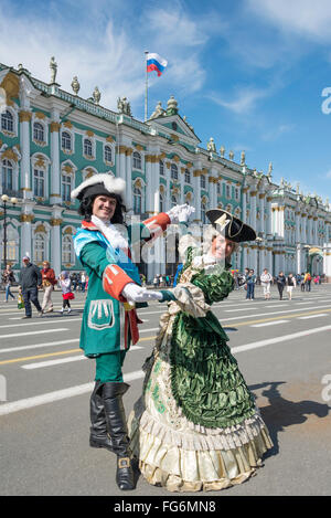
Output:
<path fill-rule="evenodd" d="M 38 316 L 42 317 L 43 311 L 38 299 L 38 288 L 42 287 L 42 276 L 40 269 L 35 264 L 30 262 L 30 257 L 24 255 L 23 257 L 23 267 L 20 271 L 19 279 L 19 292 L 22 293 L 24 307 L 25 307 L 25 317 L 32 317 L 31 303 L 35 306 L 38 310 Z"/>

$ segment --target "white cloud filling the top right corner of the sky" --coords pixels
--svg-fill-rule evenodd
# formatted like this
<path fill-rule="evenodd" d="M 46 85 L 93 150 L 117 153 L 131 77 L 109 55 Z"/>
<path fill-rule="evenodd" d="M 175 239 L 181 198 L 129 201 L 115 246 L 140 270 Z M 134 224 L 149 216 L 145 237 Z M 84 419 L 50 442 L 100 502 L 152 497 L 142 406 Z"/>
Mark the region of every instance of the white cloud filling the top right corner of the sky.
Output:
<path fill-rule="evenodd" d="M 331 41 L 330 0 L 246 0 L 246 7 L 281 31 Z"/>

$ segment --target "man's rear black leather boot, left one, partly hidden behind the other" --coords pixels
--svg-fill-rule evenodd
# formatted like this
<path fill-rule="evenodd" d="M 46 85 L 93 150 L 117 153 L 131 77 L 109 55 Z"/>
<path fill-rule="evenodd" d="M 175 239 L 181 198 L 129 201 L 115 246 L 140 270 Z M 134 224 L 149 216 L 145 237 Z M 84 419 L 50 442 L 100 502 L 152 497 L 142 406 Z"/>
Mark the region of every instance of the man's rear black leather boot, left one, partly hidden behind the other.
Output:
<path fill-rule="evenodd" d="M 107 431 L 104 400 L 102 397 L 102 383 L 96 381 L 90 394 L 89 402 L 90 434 L 89 445 L 92 447 L 105 447 L 113 452 L 113 444 Z"/>

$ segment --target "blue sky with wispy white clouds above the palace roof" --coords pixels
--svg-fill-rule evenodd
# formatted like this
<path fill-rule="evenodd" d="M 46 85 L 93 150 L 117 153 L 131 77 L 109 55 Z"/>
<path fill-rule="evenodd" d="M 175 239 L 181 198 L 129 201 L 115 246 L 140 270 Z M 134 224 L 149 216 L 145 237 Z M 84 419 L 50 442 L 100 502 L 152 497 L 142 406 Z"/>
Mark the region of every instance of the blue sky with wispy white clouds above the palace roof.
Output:
<path fill-rule="evenodd" d="M 174 95 L 204 147 L 331 200 L 330 27 L 329 0 L 0 0 L 0 61 L 49 82 L 54 55 L 64 89 L 77 75 L 82 97 L 97 85 L 116 109 L 127 96 L 142 120 L 143 52 L 157 52 L 169 65 L 149 74 L 150 114 Z"/>

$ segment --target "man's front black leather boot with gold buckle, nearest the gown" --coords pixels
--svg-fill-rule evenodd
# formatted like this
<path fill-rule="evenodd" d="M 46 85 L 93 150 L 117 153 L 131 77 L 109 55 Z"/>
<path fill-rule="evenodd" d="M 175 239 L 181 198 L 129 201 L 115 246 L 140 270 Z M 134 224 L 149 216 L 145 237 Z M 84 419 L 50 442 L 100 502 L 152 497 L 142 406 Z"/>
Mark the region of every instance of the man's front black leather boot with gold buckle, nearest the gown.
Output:
<path fill-rule="evenodd" d="M 122 395 L 128 388 L 127 383 L 121 382 L 107 382 L 103 384 L 107 427 L 111 438 L 113 451 L 117 455 L 116 483 L 121 490 L 135 489 L 128 427 L 122 404 Z"/>

